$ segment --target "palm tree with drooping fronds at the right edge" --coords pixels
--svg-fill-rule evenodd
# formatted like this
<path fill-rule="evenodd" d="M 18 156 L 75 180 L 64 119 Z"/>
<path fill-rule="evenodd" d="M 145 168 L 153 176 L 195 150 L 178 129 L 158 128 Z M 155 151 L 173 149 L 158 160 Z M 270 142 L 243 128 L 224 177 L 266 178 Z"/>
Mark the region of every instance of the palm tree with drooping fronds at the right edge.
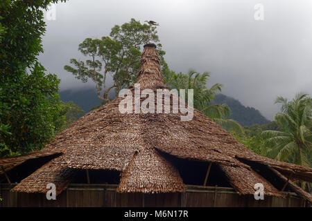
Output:
<path fill-rule="evenodd" d="M 277 97 L 275 104 L 281 104 L 281 113 L 275 115 L 275 121 L 281 131 L 263 131 L 264 144 L 272 147 L 269 156 L 280 161 L 293 162 L 302 166 L 311 166 L 311 97 L 299 93 L 288 102 Z"/>

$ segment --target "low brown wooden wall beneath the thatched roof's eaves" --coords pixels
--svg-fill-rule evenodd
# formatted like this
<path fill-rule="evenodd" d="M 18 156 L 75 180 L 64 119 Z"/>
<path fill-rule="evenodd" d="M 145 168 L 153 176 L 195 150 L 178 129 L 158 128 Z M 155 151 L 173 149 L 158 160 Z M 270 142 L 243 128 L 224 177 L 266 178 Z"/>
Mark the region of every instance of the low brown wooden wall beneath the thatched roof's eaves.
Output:
<path fill-rule="evenodd" d="M 116 193 L 112 184 L 69 184 L 56 200 L 46 200 L 42 193 L 15 193 L 15 184 L 0 184 L 0 207 L 6 206 L 306 206 L 295 193 L 285 198 L 240 195 L 232 188 L 187 186 L 185 193 Z"/>

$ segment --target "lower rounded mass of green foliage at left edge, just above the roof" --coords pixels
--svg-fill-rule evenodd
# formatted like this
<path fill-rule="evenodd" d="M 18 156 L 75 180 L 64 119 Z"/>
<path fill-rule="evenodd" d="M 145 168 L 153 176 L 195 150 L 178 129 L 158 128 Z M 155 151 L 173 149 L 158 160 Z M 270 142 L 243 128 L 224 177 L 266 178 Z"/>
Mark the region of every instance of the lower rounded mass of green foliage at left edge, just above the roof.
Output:
<path fill-rule="evenodd" d="M 31 74 L 0 77 L 0 119 L 6 132 L 0 138 L 12 151 L 10 155 L 42 148 L 55 135 L 55 128 L 62 124 L 56 120 L 62 108 L 59 83 L 40 64 L 35 64 Z"/>

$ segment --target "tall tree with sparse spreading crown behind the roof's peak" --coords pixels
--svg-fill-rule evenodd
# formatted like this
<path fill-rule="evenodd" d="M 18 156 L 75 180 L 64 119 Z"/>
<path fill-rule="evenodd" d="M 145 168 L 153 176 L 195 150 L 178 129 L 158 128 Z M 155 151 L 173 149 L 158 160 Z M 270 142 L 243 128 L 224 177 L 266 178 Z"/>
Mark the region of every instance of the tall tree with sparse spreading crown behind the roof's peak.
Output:
<path fill-rule="evenodd" d="M 71 59 L 72 66 L 64 66 L 69 73 L 87 82 L 94 81 L 98 98 L 104 103 L 110 100 L 108 93 L 114 88 L 118 94 L 122 88 L 134 83 L 139 72 L 141 46 L 148 42 L 150 26 L 141 24 L 135 19 L 122 26 L 114 26 L 110 36 L 101 39 L 87 38 L 78 50 L 87 57 L 86 61 Z M 159 41 L 155 27 L 152 28 L 153 41 Z M 162 66 L 165 66 L 162 45 L 157 44 Z M 107 87 L 107 75 L 113 83 Z"/>

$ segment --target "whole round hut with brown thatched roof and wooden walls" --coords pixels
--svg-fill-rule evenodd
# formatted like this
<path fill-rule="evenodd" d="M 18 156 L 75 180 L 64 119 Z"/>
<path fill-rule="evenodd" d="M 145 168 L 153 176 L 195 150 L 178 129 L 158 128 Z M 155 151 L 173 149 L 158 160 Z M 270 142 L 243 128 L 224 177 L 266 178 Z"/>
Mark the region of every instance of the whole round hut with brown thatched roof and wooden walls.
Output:
<path fill-rule="evenodd" d="M 137 84 L 153 93 L 166 88 L 155 44 L 144 46 Z M 121 113 L 122 100 L 116 97 L 87 113 L 42 151 L 1 159 L 4 200 L 0 205 L 306 206 L 312 202 L 311 194 L 295 184 L 312 182 L 311 168 L 257 155 L 196 109 L 193 119 L 181 121 L 182 113 Z M 57 200 L 46 200 L 49 183 L 56 186 Z M 264 200 L 254 199 L 257 183 L 263 184 Z"/>

